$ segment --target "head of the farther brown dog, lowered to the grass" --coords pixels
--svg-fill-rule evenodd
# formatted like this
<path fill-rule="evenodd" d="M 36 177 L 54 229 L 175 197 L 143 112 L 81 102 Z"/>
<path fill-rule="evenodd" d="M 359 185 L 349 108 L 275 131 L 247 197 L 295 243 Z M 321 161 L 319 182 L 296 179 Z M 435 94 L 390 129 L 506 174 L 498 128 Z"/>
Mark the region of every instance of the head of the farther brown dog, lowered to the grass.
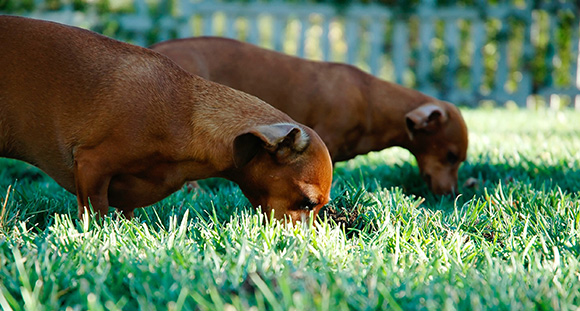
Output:
<path fill-rule="evenodd" d="M 457 171 L 467 153 L 467 126 L 453 104 L 426 103 L 405 115 L 409 150 L 435 194 L 457 191 Z"/>

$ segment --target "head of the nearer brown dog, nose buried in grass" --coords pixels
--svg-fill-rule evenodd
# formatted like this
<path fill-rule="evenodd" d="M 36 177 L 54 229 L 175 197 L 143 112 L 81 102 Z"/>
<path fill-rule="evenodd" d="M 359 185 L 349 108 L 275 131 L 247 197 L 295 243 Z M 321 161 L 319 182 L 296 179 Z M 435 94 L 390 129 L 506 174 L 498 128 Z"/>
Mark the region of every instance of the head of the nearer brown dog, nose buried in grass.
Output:
<path fill-rule="evenodd" d="M 291 123 L 256 126 L 233 144 L 236 181 L 268 216 L 304 220 L 330 199 L 332 162 L 310 128 Z"/>

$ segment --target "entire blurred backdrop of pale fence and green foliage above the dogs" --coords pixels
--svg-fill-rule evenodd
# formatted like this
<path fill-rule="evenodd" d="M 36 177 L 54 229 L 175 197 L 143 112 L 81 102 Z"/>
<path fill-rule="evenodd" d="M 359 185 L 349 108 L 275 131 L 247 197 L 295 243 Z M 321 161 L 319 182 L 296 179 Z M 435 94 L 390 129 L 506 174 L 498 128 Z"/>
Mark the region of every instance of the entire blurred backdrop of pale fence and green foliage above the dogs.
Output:
<path fill-rule="evenodd" d="M 212 35 L 468 107 L 580 109 L 576 0 L 0 0 L 133 44 Z"/>

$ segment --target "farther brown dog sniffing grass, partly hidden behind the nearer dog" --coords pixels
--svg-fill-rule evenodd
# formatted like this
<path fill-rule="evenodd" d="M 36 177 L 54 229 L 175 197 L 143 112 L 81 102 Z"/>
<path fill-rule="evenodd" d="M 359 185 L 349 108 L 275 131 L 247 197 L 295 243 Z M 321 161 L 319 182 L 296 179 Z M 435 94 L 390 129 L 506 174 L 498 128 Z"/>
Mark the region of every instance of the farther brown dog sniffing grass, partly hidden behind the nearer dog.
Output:
<path fill-rule="evenodd" d="M 436 194 L 457 189 L 467 127 L 452 104 L 353 66 L 315 62 L 247 43 L 200 37 L 151 47 L 184 69 L 255 95 L 312 127 L 333 161 L 401 146 Z"/>

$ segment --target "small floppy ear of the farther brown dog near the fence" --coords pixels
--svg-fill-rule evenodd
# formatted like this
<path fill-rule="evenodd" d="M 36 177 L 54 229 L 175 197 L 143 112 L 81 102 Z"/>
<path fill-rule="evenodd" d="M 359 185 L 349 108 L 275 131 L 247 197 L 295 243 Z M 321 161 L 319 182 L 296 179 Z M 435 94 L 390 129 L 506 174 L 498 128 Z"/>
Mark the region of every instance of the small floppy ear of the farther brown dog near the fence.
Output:
<path fill-rule="evenodd" d="M 433 103 L 424 104 L 405 115 L 407 134 L 413 140 L 417 131 L 434 132 L 448 119 L 447 112 Z"/>

